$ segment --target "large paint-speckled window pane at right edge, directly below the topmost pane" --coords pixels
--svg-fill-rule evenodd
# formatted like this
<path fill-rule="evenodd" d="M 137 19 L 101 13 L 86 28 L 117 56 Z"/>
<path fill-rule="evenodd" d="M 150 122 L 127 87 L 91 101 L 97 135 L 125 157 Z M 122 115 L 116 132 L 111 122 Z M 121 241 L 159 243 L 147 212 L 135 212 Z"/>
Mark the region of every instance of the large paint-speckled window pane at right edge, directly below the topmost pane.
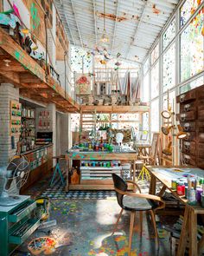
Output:
<path fill-rule="evenodd" d="M 203 17 L 194 17 L 181 35 L 181 82 L 203 70 Z"/>

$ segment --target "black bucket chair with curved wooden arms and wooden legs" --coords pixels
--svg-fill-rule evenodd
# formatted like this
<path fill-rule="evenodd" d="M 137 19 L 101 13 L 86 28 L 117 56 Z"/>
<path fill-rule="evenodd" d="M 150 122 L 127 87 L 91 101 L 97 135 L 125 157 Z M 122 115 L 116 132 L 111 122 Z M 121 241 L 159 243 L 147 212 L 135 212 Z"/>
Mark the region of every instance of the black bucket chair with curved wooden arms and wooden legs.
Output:
<path fill-rule="evenodd" d="M 151 221 L 154 226 L 155 236 L 156 236 L 156 245 L 158 246 L 158 233 L 156 229 L 156 219 L 155 211 L 156 209 L 161 209 L 165 206 L 163 200 L 160 197 L 152 194 L 141 194 L 141 189 L 137 183 L 133 181 L 124 181 L 117 174 L 112 174 L 112 180 L 114 183 L 114 188 L 117 195 L 118 205 L 121 207 L 121 211 L 118 216 L 118 220 L 114 226 L 113 233 L 117 230 L 118 222 L 122 216 L 124 210 L 131 212 L 131 223 L 130 223 L 130 236 L 129 236 L 129 248 L 128 256 L 131 256 L 131 240 L 133 233 L 133 226 L 136 212 L 140 214 L 140 236 L 143 232 L 143 212 L 150 213 Z M 133 184 L 133 192 L 127 191 L 128 183 Z M 138 190 L 138 193 L 136 191 Z"/>

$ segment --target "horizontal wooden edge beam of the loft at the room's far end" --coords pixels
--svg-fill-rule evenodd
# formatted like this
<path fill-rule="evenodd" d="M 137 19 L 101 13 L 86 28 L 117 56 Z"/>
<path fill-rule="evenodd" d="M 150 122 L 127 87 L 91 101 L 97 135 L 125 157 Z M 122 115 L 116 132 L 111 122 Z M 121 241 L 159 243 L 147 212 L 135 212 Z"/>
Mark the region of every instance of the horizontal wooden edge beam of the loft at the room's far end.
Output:
<path fill-rule="evenodd" d="M 81 106 L 82 113 L 144 113 L 149 112 L 149 106 Z"/>

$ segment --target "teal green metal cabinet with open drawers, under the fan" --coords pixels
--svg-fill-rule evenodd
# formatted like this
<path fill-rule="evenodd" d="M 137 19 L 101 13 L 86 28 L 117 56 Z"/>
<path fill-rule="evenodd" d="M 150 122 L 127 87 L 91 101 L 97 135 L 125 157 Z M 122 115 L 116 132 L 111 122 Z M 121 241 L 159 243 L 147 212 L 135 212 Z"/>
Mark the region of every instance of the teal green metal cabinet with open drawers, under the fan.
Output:
<path fill-rule="evenodd" d="M 0 256 L 9 256 L 40 225 L 40 220 L 31 218 L 36 207 L 34 200 L 20 195 L 16 206 L 0 206 Z"/>

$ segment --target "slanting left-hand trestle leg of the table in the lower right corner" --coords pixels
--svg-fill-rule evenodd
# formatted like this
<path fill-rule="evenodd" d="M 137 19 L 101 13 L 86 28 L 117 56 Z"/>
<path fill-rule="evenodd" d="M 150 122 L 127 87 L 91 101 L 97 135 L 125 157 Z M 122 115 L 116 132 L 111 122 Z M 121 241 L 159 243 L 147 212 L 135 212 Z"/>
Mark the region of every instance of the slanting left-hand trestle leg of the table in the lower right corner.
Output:
<path fill-rule="evenodd" d="M 184 213 L 184 219 L 182 223 L 182 233 L 179 240 L 179 246 L 178 246 L 178 252 L 176 256 L 183 256 L 185 253 L 185 248 L 187 245 L 187 237 L 188 237 L 188 227 L 189 227 L 189 207 L 186 205 L 185 207 L 185 213 Z"/>

